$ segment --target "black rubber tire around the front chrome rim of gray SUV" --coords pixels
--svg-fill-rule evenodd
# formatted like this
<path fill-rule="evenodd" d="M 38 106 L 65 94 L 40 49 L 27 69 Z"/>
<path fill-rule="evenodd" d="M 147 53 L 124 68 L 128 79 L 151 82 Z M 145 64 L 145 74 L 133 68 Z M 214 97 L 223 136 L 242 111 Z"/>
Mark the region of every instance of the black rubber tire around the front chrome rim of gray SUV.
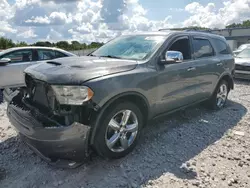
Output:
<path fill-rule="evenodd" d="M 110 120 L 120 111 L 123 110 L 130 110 L 133 112 L 133 114 L 137 117 L 138 120 L 138 130 L 137 130 L 137 135 L 132 142 L 132 144 L 124 151 L 121 152 L 114 152 L 112 151 L 107 143 L 106 143 L 106 134 L 107 134 L 107 128 L 109 125 Z M 141 129 L 143 127 L 143 116 L 141 113 L 141 110 L 134 105 L 133 103 L 130 102 L 122 102 L 118 103 L 115 106 L 112 106 L 111 108 L 108 108 L 106 113 L 103 114 L 101 117 L 101 124 L 98 125 L 98 129 L 95 135 L 94 139 L 94 149 L 95 151 L 102 157 L 104 158 L 109 158 L 109 159 L 118 159 L 126 156 L 128 153 L 130 153 L 136 146 L 137 141 L 140 137 Z M 120 143 L 120 141 L 119 141 Z M 118 144 L 119 144 L 118 143 Z"/>

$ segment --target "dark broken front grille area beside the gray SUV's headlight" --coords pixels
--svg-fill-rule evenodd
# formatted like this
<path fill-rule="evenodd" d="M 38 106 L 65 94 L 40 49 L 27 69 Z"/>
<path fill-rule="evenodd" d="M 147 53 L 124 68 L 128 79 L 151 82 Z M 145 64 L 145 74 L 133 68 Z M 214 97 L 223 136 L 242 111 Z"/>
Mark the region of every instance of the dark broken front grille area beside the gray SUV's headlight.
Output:
<path fill-rule="evenodd" d="M 55 107 L 55 96 L 52 88 L 46 82 L 33 79 L 29 75 L 25 75 L 27 85 L 26 98 L 42 111 L 53 110 Z"/>

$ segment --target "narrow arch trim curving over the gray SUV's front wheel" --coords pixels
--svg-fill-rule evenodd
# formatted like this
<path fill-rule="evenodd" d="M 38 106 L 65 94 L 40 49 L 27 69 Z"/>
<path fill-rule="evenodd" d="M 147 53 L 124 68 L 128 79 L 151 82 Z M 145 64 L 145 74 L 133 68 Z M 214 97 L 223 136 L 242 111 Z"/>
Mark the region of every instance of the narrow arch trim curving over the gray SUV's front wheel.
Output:
<path fill-rule="evenodd" d="M 113 103 L 115 102 L 116 100 L 122 98 L 122 97 L 126 97 L 126 96 L 129 96 L 129 95 L 136 95 L 138 97 L 141 97 L 145 104 L 147 105 L 147 109 L 148 109 L 148 114 L 150 112 L 150 108 L 149 108 L 149 102 L 147 100 L 147 98 L 142 95 L 141 93 L 139 92 L 135 92 L 135 91 L 129 91 L 129 92 L 125 92 L 125 93 L 120 93 L 114 97 L 112 97 L 110 100 L 108 100 L 103 106 L 99 106 L 99 112 L 97 114 L 97 117 L 95 119 L 95 121 L 93 122 L 93 127 L 92 127 L 92 131 L 91 131 L 91 135 L 90 135 L 90 144 L 93 145 L 94 143 L 94 138 L 95 138 L 95 135 L 96 135 L 96 131 L 98 129 L 98 126 L 100 125 L 99 122 L 102 118 L 102 115 L 104 114 L 104 112 L 106 111 L 106 109 Z"/>

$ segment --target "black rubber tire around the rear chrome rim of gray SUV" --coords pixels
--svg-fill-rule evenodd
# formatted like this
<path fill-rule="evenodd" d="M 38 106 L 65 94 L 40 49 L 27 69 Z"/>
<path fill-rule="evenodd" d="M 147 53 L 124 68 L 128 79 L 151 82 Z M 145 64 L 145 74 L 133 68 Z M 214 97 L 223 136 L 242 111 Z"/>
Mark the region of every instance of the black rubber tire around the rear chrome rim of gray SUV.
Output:
<path fill-rule="evenodd" d="M 218 105 L 217 94 L 220 91 L 220 87 L 222 85 L 225 85 L 226 88 L 227 88 L 226 99 L 225 99 L 225 101 L 223 102 L 222 105 Z M 220 109 L 222 109 L 226 105 L 227 97 L 228 97 L 229 92 L 230 92 L 230 88 L 229 88 L 228 82 L 225 81 L 225 80 L 221 80 L 219 82 L 219 84 L 217 85 L 212 97 L 207 101 L 207 107 L 212 109 L 212 110 L 220 110 Z"/>

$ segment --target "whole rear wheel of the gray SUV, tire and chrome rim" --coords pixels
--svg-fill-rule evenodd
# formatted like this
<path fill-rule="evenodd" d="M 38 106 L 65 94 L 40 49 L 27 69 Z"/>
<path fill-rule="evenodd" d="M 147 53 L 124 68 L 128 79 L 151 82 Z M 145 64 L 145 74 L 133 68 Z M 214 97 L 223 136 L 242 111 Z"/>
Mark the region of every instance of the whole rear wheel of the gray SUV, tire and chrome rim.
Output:
<path fill-rule="evenodd" d="M 223 92 L 223 94 L 221 90 L 222 87 L 226 90 Z M 222 97 L 218 96 L 219 92 L 220 92 L 220 96 Z M 216 87 L 212 97 L 207 101 L 207 106 L 212 110 L 222 109 L 227 102 L 227 97 L 228 97 L 229 92 L 230 92 L 230 89 L 228 87 L 228 83 L 225 80 L 221 80 L 218 86 Z M 219 100 L 221 100 L 221 102 L 219 102 Z"/>

